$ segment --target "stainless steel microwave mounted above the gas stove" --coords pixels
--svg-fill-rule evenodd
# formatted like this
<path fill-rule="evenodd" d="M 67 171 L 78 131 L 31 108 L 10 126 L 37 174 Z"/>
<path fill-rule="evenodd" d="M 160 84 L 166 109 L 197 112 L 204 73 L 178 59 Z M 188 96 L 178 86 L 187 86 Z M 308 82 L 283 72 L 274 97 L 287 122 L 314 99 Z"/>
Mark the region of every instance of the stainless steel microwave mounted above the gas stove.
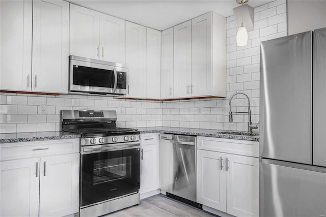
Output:
<path fill-rule="evenodd" d="M 127 94 L 127 66 L 69 56 L 69 92 L 102 95 Z"/>

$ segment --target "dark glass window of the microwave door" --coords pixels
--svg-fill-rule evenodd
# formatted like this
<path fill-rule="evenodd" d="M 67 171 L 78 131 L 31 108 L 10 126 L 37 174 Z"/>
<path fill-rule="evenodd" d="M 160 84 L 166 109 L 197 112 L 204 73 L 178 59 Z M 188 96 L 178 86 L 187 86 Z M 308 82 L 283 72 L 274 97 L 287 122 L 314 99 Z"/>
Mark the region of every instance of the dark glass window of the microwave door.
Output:
<path fill-rule="evenodd" d="M 73 84 L 94 87 L 114 87 L 114 71 L 84 66 L 73 67 Z"/>

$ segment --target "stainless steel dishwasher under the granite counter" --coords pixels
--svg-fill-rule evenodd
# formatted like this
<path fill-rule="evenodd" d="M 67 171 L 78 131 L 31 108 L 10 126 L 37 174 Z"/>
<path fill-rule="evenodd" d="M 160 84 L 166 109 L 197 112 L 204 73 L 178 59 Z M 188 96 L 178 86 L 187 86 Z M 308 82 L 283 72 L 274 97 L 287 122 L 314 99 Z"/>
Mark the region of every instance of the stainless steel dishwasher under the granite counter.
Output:
<path fill-rule="evenodd" d="M 197 137 L 159 135 L 161 191 L 170 198 L 202 209 L 197 203 Z"/>

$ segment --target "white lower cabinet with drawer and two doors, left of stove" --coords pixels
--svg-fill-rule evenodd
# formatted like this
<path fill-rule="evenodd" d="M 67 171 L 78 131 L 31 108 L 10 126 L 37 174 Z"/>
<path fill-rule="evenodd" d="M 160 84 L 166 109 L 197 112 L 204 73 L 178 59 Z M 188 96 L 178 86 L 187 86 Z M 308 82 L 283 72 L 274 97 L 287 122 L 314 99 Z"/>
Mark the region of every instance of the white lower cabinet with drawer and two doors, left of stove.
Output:
<path fill-rule="evenodd" d="M 65 216 L 78 212 L 78 147 L 79 139 L 1 144 L 0 216 Z M 74 153 L 58 154 L 69 149 Z M 17 158 L 22 157 L 21 151 L 26 159 Z"/>

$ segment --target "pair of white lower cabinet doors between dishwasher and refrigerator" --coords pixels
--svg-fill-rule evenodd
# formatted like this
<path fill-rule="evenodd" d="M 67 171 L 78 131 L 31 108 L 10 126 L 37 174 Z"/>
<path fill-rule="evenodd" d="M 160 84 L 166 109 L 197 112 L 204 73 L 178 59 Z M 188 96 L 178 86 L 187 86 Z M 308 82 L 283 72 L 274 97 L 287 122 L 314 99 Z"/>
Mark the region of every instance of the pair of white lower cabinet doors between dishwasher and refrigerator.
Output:
<path fill-rule="evenodd" d="M 198 202 L 234 216 L 259 216 L 259 159 L 197 151 Z"/>

